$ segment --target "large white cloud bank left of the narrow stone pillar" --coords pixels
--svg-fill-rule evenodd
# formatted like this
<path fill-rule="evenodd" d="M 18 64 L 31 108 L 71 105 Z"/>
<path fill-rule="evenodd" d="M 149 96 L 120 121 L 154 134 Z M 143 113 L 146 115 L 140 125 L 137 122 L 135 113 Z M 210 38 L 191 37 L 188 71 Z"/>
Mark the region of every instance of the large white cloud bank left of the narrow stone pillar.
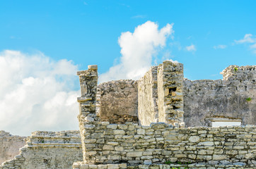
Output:
<path fill-rule="evenodd" d="M 0 130 L 77 130 L 77 66 L 44 54 L 0 53 Z"/>

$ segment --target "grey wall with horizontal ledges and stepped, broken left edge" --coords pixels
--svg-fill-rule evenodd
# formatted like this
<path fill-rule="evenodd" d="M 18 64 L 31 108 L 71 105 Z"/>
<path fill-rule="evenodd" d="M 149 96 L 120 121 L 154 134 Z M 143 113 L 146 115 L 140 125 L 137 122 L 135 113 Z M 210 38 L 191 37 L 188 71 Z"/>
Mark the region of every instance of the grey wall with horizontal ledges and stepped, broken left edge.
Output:
<path fill-rule="evenodd" d="M 82 160 L 81 139 L 78 131 L 33 132 L 26 139 L 19 155 L 5 161 L 0 168 L 72 168 Z"/>

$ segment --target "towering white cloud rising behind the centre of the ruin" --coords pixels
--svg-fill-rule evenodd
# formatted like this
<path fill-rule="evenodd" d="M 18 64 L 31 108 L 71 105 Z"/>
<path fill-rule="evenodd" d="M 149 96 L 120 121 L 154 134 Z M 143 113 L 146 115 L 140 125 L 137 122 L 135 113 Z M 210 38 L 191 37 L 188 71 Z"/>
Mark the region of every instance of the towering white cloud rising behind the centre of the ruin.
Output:
<path fill-rule="evenodd" d="M 134 32 L 123 32 L 118 42 L 121 47 L 120 63 L 99 77 L 99 82 L 119 79 L 139 79 L 151 67 L 152 58 L 158 49 L 165 46 L 166 39 L 173 33 L 173 24 L 161 30 L 151 21 L 139 25 Z"/>

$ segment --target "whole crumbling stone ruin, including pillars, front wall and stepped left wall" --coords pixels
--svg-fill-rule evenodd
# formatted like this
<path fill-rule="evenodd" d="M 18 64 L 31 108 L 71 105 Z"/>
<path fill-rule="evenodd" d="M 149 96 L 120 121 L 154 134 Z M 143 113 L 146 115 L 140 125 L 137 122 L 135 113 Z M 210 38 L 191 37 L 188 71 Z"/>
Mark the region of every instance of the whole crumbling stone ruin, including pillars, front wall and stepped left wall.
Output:
<path fill-rule="evenodd" d="M 103 84 L 97 70 L 78 71 L 80 131 L 33 132 L 0 168 L 256 168 L 255 65 L 191 81 L 164 61 L 140 80 Z"/>

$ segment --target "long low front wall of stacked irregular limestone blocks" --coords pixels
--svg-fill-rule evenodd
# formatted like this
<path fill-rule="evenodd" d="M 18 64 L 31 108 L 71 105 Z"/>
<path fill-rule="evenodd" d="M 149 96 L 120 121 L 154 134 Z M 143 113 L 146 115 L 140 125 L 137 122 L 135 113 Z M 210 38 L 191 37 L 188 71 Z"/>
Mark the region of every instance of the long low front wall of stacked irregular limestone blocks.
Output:
<path fill-rule="evenodd" d="M 87 164 L 256 164 L 255 126 L 173 128 L 165 123 L 91 122 L 85 129 Z"/>

